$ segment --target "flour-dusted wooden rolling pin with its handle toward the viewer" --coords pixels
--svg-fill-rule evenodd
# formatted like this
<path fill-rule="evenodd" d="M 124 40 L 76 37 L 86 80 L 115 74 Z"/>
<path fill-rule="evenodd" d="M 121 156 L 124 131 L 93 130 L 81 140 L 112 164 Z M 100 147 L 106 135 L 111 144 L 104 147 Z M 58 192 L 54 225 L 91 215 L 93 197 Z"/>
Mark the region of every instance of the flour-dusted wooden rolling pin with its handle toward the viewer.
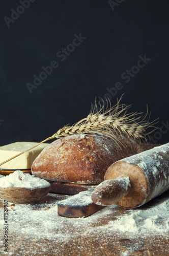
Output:
<path fill-rule="evenodd" d="M 169 189 L 169 143 L 124 158 L 109 166 L 104 181 L 93 191 L 98 205 L 132 209 Z"/>

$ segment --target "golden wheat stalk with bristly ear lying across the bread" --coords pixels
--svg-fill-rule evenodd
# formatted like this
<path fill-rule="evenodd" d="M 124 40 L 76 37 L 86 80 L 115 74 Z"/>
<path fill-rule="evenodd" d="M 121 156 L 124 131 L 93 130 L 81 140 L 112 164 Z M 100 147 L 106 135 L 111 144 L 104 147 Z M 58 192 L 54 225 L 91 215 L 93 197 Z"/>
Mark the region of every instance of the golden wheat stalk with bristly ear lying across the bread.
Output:
<path fill-rule="evenodd" d="M 121 135 L 125 135 L 129 139 L 146 139 L 146 136 L 156 129 L 156 127 L 154 126 L 156 120 L 154 120 L 153 122 L 149 122 L 150 116 L 148 120 L 146 120 L 148 110 L 146 115 L 144 116 L 142 116 L 143 113 L 137 112 L 127 114 L 127 111 L 131 105 L 123 105 L 123 103 L 120 103 L 121 99 L 122 97 L 120 98 L 120 100 L 117 100 L 117 104 L 115 106 L 111 107 L 111 103 L 107 98 L 106 106 L 103 101 L 102 107 L 100 104 L 100 110 L 98 110 L 97 102 L 95 100 L 94 108 L 92 107 L 91 112 L 87 116 L 87 118 L 83 118 L 72 126 L 65 125 L 57 133 L 41 141 L 37 145 L 19 153 L 18 155 L 4 161 L 3 163 L 0 163 L 0 166 L 22 155 L 23 153 L 32 150 L 36 146 L 50 139 L 59 139 L 74 134 L 88 133 L 90 135 L 94 134 L 98 136 L 105 135 L 107 138 L 110 137 L 117 143 Z M 148 129 L 149 127 L 154 127 L 155 129 L 149 133 L 146 133 L 146 129 Z"/>

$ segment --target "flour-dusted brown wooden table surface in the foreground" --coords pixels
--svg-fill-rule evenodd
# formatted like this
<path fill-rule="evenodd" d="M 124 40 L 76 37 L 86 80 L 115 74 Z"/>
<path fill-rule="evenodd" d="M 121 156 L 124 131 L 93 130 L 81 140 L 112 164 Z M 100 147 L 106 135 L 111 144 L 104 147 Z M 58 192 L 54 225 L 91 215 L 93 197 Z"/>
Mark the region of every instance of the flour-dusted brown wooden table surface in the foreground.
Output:
<path fill-rule="evenodd" d="M 4 200 L 1 199 L 1 255 L 169 255 L 169 234 L 151 229 L 120 231 L 113 221 L 135 212 L 107 206 L 87 218 L 58 216 L 57 203 L 69 196 L 49 193 L 38 204 L 8 202 L 8 252 L 4 252 Z M 139 209 L 169 201 L 169 191 Z M 162 223 L 163 220 L 161 220 Z"/>

